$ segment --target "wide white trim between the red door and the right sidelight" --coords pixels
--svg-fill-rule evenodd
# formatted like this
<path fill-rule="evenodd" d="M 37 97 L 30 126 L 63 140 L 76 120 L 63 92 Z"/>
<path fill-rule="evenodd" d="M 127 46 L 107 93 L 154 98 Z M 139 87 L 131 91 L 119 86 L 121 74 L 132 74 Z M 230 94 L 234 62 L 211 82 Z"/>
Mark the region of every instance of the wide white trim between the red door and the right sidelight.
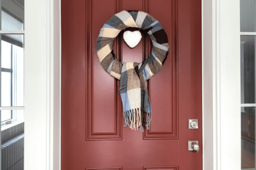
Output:
<path fill-rule="evenodd" d="M 241 170 L 239 14 L 239 0 L 202 0 L 204 170 Z"/>

